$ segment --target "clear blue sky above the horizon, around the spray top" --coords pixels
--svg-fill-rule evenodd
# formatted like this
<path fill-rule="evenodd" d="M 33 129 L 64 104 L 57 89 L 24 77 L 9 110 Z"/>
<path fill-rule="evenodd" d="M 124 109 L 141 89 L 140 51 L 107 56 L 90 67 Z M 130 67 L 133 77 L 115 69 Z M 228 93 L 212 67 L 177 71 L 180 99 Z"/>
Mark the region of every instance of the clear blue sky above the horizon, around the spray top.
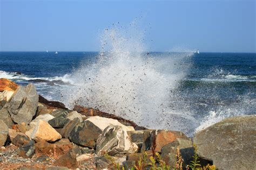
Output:
<path fill-rule="evenodd" d="M 0 51 L 100 51 L 104 29 L 142 18 L 149 51 L 256 52 L 256 0 L 0 1 Z"/>

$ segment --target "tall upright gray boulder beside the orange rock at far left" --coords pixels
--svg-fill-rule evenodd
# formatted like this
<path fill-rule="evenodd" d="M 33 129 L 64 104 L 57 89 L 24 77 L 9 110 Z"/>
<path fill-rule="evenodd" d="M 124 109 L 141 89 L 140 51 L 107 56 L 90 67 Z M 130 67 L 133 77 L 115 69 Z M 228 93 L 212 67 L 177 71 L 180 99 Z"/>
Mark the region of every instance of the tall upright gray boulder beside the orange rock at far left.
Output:
<path fill-rule="evenodd" d="M 35 116 L 38 104 L 38 94 L 33 84 L 26 87 L 19 86 L 4 108 L 11 115 L 12 121 L 16 123 L 25 122 L 29 124 Z"/>

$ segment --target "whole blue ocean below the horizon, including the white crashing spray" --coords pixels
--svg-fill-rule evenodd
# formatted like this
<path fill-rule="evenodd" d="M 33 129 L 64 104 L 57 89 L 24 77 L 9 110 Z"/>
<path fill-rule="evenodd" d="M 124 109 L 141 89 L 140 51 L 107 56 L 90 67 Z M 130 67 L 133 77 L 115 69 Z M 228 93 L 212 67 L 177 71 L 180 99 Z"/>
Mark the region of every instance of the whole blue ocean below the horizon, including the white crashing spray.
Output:
<path fill-rule="evenodd" d="M 256 114 L 255 53 L 0 52 L 0 77 L 147 128 L 194 132 Z"/>

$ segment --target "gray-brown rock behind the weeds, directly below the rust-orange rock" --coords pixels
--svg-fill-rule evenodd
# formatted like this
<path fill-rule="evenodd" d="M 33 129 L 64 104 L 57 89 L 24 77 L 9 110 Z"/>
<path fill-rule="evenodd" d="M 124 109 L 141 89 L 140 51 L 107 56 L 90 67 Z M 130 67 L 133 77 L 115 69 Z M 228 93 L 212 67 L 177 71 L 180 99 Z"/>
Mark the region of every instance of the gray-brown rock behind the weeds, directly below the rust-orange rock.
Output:
<path fill-rule="evenodd" d="M 166 162 L 167 165 L 170 165 L 171 168 L 176 168 L 177 163 L 177 150 L 180 150 L 180 155 L 183 159 L 183 167 L 190 164 L 192 156 L 194 153 L 193 143 L 191 140 L 187 139 L 176 139 L 172 143 L 164 145 L 161 148 L 161 158 Z"/>

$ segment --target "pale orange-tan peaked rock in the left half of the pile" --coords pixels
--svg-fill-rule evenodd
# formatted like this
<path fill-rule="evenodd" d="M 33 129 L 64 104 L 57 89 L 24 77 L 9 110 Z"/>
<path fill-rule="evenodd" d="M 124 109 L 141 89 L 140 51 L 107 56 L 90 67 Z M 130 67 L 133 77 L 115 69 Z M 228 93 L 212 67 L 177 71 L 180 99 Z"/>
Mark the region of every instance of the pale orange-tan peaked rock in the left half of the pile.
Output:
<path fill-rule="evenodd" d="M 42 120 L 36 122 L 36 125 L 29 131 L 26 131 L 25 134 L 37 142 L 41 140 L 56 141 L 62 138 L 62 136 L 53 129 L 49 123 Z"/>

